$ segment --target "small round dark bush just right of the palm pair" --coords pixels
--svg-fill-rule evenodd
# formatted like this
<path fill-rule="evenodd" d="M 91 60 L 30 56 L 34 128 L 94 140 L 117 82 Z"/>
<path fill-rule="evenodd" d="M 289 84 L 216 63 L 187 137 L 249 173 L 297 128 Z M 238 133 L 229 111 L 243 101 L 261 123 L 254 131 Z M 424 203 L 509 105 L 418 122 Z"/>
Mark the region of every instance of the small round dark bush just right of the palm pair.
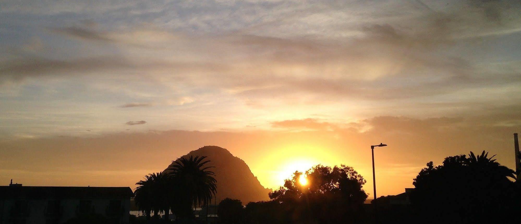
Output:
<path fill-rule="evenodd" d="M 220 223 L 239 224 L 244 223 L 244 207 L 240 200 L 225 198 L 219 203 L 217 209 Z"/>

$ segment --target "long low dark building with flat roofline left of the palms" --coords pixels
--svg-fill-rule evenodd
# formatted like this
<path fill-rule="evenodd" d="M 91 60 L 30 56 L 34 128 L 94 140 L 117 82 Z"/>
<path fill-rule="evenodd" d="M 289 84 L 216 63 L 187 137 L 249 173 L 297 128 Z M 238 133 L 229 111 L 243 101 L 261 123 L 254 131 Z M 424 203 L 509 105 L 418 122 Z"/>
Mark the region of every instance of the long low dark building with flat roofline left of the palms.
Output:
<path fill-rule="evenodd" d="M 98 215 L 128 223 L 132 190 L 93 186 L 0 186 L 0 223 L 64 223 Z"/>

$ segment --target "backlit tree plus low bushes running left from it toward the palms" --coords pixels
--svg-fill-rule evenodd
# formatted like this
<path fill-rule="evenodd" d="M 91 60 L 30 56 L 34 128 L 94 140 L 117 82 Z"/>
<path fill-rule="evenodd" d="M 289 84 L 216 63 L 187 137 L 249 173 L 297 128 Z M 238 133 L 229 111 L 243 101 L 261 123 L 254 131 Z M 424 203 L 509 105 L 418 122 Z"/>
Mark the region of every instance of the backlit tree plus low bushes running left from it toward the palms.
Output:
<path fill-rule="evenodd" d="M 306 171 L 306 185 L 296 171 L 284 186 L 269 194 L 267 202 L 251 202 L 245 208 L 227 198 L 219 204 L 221 223 L 353 223 L 363 217 L 367 194 L 364 178 L 352 167 L 315 166 Z M 240 206 L 239 206 L 240 205 Z M 233 219 L 240 217 L 241 219 Z"/>

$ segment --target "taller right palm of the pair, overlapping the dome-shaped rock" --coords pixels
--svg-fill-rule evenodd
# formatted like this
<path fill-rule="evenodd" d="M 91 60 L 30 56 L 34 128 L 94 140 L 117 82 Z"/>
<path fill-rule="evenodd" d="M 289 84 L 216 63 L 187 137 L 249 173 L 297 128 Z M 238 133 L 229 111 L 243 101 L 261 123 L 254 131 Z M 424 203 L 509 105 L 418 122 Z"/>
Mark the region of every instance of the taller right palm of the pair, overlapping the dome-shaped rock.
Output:
<path fill-rule="evenodd" d="M 207 205 L 212 195 L 217 192 L 215 173 L 204 167 L 210 160 L 203 161 L 206 156 L 181 157 L 173 161 L 171 177 L 176 191 L 176 200 L 171 204 L 172 210 L 181 218 L 193 218 L 192 208 Z"/>

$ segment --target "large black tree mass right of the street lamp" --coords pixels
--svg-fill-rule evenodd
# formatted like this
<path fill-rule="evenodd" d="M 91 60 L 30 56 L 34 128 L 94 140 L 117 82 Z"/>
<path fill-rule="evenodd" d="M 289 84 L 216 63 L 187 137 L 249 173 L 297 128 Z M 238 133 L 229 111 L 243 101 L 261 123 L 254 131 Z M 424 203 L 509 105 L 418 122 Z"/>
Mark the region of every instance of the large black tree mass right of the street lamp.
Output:
<path fill-rule="evenodd" d="M 426 222 L 500 223 L 512 219 L 518 190 L 514 171 L 501 166 L 483 151 L 476 156 L 446 157 L 443 165 L 432 161 L 414 179 L 414 207 Z M 428 218 L 427 218 L 428 217 Z"/>

